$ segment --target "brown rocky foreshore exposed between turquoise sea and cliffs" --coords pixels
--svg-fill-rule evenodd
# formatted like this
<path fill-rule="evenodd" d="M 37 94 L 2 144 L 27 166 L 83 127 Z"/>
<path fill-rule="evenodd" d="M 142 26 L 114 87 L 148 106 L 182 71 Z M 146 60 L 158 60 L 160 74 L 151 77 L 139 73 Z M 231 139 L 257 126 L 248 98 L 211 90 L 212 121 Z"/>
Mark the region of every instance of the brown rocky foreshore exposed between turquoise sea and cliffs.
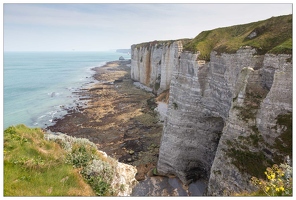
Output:
<path fill-rule="evenodd" d="M 95 67 L 95 83 L 76 91 L 85 107 L 68 109 L 45 129 L 89 139 L 119 162 L 137 168 L 144 180 L 156 167 L 163 124 L 154 111 L 155 95 L 137 88 L 130 78 L 130 59 Z"/>

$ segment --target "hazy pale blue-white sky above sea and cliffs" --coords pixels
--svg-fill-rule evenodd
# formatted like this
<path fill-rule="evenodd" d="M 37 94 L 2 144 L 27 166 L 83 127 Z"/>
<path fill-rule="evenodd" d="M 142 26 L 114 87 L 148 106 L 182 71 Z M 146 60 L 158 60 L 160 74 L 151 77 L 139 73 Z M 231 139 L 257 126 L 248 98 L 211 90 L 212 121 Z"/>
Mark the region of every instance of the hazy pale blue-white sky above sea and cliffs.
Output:
<path fill-rule="evenodd" d="M 292 14 L 292 4 L 3 5 L 4 51 L 101 51 Z"/>

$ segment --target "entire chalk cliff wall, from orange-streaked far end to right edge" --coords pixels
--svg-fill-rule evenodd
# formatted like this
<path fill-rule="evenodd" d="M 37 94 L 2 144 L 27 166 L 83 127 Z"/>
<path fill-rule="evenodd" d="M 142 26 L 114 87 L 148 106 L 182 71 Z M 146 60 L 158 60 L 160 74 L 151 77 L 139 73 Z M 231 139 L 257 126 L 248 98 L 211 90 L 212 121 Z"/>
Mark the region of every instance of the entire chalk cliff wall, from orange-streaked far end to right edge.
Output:
<path fill-rule="evenodd" d="M 242 41 L 253 32 L 267 34 L 259 26 L 244 26 Z M 292 55 L 267 47 L 227 49 L 185 51 L 178 40 L 133 45 L 131 51 L 132 78 L 156 94 L 170 90 L 158 172 L 186 184 L 205 179 L 207 195 L 252 191 L 251 176 L 292 155 Z"/>

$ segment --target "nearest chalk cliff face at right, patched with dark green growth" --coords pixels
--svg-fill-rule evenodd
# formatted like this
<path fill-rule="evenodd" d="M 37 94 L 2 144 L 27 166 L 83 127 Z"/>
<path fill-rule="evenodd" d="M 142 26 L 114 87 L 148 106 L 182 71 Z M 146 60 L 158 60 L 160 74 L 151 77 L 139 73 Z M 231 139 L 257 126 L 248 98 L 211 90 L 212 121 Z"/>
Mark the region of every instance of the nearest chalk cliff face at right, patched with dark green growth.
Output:
<path fill-rule="evenodd" d="M 264 162 L 278 164 L 279 158 L 284 160 L 287 156 L 287 152 L 280 151 L 274 144 L 289 128 L 278 124 L 277 117 L 289 116 L 292 112 L 292 63 L 287 62 L 290 57 L 265 55 L 260 69 L 245 68 L 240 73 L 237 85 L 242 83 L 242 87 L 234 91 L 237 98 L 229 111 L 211 168 L 208 195 L 251 191 L 250 178 L 262 170 Z M 258 95 L 253 96 L 251 102 L 250 90 Z M 260 171 L 257 176 L 260 173 L 263 175 Z"/>

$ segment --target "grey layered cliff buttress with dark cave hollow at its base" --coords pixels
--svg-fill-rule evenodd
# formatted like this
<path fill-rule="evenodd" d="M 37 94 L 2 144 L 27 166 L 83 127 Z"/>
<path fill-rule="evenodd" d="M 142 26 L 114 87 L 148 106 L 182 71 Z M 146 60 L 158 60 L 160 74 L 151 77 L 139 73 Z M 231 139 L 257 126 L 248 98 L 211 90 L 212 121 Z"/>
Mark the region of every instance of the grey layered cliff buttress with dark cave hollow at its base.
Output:
<path fill-rule="evenodd" d="M 238 75 L 255 66 L 253 50 L 216 56 L 199 65 L 197 54 L 182 53 L 173 74 L 169 110 L 160 147 L 158 171 L 183 182 L 207 178 L 227 123 Z"/>

